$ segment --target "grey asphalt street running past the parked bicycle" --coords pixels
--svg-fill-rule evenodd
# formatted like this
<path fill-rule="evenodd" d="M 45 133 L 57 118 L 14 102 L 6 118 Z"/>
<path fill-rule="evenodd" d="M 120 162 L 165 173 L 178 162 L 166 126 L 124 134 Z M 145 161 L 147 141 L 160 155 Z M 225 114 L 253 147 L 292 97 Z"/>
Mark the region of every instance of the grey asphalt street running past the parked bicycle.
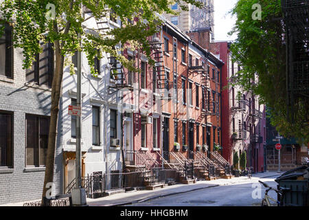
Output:
<path fill-rule="evenodd" d="M 277 187 L 277 183 L 274 181 L 275 177 L 260 180 L 273 188 Z M 141 203 L 133 203 L 129 206 L 260 206 L 264 192 L 265 188 L 258 183 L 258 179 L 248 179 L 240 184 L 195 190 Z M 270 191 L 268 195 L 274 199 L 277 198 L 274 191 Z"/>

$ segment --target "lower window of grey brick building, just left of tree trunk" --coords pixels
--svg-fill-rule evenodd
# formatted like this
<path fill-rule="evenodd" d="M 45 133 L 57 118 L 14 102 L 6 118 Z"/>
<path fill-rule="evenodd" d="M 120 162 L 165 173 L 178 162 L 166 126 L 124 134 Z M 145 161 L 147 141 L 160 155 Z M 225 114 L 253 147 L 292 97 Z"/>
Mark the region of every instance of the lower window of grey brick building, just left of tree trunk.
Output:
<path fill-rule="evenodd" d="M 49 117 L 26 114 L 26 166 L 45 166 Z"/>

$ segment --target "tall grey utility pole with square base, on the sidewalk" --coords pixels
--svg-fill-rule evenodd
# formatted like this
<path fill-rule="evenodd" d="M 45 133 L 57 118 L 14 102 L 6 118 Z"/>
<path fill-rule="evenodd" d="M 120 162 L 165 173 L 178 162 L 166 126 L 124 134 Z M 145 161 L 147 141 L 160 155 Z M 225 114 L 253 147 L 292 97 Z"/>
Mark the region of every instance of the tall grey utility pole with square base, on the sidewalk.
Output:
<path fill-rule="evenodd" d="M 80 3 L 80 12 L 82 14 L 82 3 Z M 81 35 L 78 33 L 78 39 L 81 44 Z M 87 205 L 86 192 L 82 188 L 82 153 L 81 153 L 81 127 L 82 127 L 82 52 L 78 51 L 78 67 L 77 67 L 77 100 L 76 104 L 80 107 L 80 115 L 76 115 L 76 185 L 72 190 L 72 202 L 74 206 Z"/>

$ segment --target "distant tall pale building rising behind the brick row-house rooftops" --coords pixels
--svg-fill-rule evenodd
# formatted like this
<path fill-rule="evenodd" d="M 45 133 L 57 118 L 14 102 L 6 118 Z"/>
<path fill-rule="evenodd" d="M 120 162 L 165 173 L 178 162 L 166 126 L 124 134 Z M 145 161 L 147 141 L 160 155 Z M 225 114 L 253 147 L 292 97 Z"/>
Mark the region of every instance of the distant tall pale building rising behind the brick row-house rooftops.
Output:
<path fill-rule="evenodd" d="M 172 22 L 183 32 L 210 28 L 211 40 L 214 39 L 214 0 L 198 0 L 204 4 L 203 8 L 188 4 L 188 11 L 183 11 L 177 3 L 171 5 L 172 10 L 180 12 L 179 16 L 163 14 L 168 21 Z"/>

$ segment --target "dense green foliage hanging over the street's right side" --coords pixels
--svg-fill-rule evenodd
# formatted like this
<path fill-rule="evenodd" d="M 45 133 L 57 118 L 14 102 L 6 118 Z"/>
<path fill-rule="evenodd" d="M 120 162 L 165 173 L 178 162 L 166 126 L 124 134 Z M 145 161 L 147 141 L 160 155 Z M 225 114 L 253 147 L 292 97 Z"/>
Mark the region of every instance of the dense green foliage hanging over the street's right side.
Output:
<path fill-rule="evenodd" d="M 261 19 L 253 19 L 253 4 L 262 6 Z M 309 142 L 308 98 L 295 100 L 297 109 L 294 120 L 289 120 L 286 90 L 286 42 L 282 21 L 281 0 L 239 0 L 231 14 L 236 15 L 236 24 L 229 34 L 238 37 L 231 44 L 233 61 L 242 65 L 234 85 L 260 96 L 271 115 L 271 124 L 285 137 L 294 136 L 299 142 Z M 258 75 L 258 82 L 251 79 Z"/>

